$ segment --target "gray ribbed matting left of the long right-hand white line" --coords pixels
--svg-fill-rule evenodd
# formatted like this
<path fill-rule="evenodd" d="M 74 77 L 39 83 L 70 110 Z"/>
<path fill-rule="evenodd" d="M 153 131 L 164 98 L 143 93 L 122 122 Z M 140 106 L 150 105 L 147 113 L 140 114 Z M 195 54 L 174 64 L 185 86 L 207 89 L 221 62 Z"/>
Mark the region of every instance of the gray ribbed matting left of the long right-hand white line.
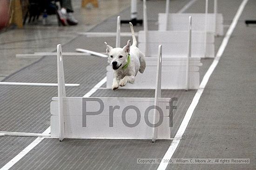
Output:
<path fill-rule="evenodd" d="M 150 2 L 150 1 L 148 1 Z M 164 6 L 164 1 L 159 1 L 160 6 Z M 175 12 L 186 4 L 188 0 L 175 1 L 175 6 L 171 8 Z M 153 2 L 149 10 L 154 13 L 163 12 L 164 8 L 157 9 Z M 159 5 L 158 3 L 156 5 Z M 141 4 L 140 4 L 141 5 Z M 162 11 L 161 11 L 162 10 Z M 142 11 L 140 11 L 141 13 Z M 153 12 L 152 12 L 153 13 Z M 121 16 L 129 16 L 129 9 L 125 10 Z M 125 17 L 122 17 L 125 19 Z M 149 15 L 149 29 L 157 28 L 155 22 L 157 17 Z M 111 21 L 111 24 L 109 24 Z M 101 23 L 91 31 L 113 31 L 115 30 L 115 17 Z M 142 30 L 142 26 L 135 27 L 135 31 Z M 122 31 L 130 31 L 128 25 L 122 25 Z M 121 38 L 121 44 L 126 44 L 128 38 Z M 72 52 L 75 48 L 85 48 L 98 52 L 105 51 L 104 41 L 115 44 L 115 38 L 86 38 L 78 36 L 73 41 L 63 45 L 64 52 Z M 203 59 L 206 63 L 200 69 L 204 75 L 207 66 L 212 59 Z M 103 77 L 106 76 L 107 59 L 87 56 L 87 57 L 64 57 L 64 71 L 66 83 L 80 83 L 78 88 L 67 88 L 67 96 L 83 96 Z M 8 82 L 57 82 L 57 62 L 55 56 L 43 57 L 19 72 L 9 76 Z M 57 96 L 56 87 L 14 87 L 0 86 L 0 110 L 1 110 L 1 131 L 19 132 L 43 132 L 50 121 L 50 101 L 53 96 Z M 163 97 L 177 97 L 177 110 L 174 113 L 175 132 L 184 117 L 184 114 L 191 103 L 195 90 L 185 92 L 184 90 L 163 90 Z M 137 96 L 154 97 L 154 90 L 112 90 L 99 89 L 94 96 Z M 20 148 L 25 147 L 34 138 L 17 138 L 13 140 L 16 145 L 10 147 L 0 147 L 0 157 L 2 164 L 10 160 L 13 151 L 18 154 Z M 0 144 L 5 144 L 12 140 L 9 137 L 0 138 Z M 159 140 L 155 144 L 149 140 L 82 140 L 65 139 L 59 142 L 57 139 L 44 139 L 24 158 L 13 166 L 15 169 L 155 169 L 158 164 L 140 165 L 136 164 L 136 158 L 161 158 L 170 145 L 170 140 Z M 7 156 L 5 153 L 10 153 Z M 98 162 L 97 162 L 98 161 Z"/>

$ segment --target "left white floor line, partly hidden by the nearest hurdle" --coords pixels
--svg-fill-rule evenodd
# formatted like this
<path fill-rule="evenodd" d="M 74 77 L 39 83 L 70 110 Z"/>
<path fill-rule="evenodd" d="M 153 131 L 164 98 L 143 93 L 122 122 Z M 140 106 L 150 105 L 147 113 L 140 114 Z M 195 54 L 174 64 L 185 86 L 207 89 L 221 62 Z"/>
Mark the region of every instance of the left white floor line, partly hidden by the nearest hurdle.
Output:
<path fill-rule="evenodd" d="M 98 88 L 100 88 L 105 82 L 107 82 L 107 77 L 104 77 L 100 82 L 98 82 L 87 94 L 85 94 L 83 97 L 90 97 L 92 94 L 97 91 Z M 47 128 L 43 132 L 43 134 L 49 134 L 51 132 L 50 127 Z M 9 170 L 11 167 L 13 167 L 14 164 L 20 161 L 22 157 L 27 155 L 29 151 L 31 151 L 36 145 L 38 145 L 43 139 L 46 139 L 49 137 L 38 137 L 36 138 L 30 145 L 28 145 L 25 149 L 23 149 L 18 155 L 13 157 L 12 160 L 10 160 L 7 164 L 5 164 L 0 170 Z"/>

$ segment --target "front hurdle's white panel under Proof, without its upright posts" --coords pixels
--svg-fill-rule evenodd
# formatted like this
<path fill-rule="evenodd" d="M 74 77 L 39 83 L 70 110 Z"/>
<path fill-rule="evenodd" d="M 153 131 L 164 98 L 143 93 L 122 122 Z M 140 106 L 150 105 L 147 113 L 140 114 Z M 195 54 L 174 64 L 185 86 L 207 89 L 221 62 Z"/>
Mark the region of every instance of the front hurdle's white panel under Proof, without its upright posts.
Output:
<path fill-rule="evenodd" d="M 104 103 L 102 113 L 98 115 L 88 115 L 83 120 L 86 111 L 98 111 L 100 104 L 96 101 L 88 101 L 90 99 L 101 100 Z M 169 105 L 170 98 L 159 98 L 159 107 L 163 111 L 163 122 L 158 127 L 157 139 L 170 139 L 169 127 Z M 59 137 L 58 126 L 58 98 L 53 98 L 51 102 L 51 137 Z M 151 139 L 152 127 L 145 123 L 144 113 L 150 106 L 154 106 L 154 98 L 82 98 L 82 97 L 64 97 L 64 121 L 65 121 L 65 138 L 81 138 L 81 139 Z M 86 106 L 85 106 L 86 105 Z M 115 109 L 113 119 L 109 116 L 109 107 L 120 106 Z M 141 115 L 136 116 L 133 109 L 127 110 L 125 117 L 122 112 L 125 107 L 137 107 Z M 86 109 L 86 110 L 85 110 Z M 148 114 L 149 122 L 153 123 L 153 112 Z M 137 119 L 140 122 L 135 127 L 128 127 L 123 123 L 125 119 L 129 124 L 134 124 Z M 113 127 L 110 122 L 113 120 Z M 86 127 L 83 127 L 83 121 L 86 121 Z"/>

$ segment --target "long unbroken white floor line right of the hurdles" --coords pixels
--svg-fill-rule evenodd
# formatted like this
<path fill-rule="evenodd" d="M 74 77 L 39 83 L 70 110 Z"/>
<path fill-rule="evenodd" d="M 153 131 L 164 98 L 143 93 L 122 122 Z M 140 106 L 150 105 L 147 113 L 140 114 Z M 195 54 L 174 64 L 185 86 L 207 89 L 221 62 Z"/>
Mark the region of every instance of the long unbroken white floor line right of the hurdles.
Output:
<path fill-rule="evenodd" d="M 178 132 L 176 133 L 175 135 L 175 138 L 182 138 L 182 135 L 183 133 L 185 132 L 188 124 L 189 124 L 189 120 L 195 110 L 195 107 L 196 105 L 198 104 L 199 102 L 199 99 L 203 93 L 203 90 L 207 84 L 207 82 L 209 81 L 209 77 L 211 76 L 211 74 L 213 73 L 214 69 L 216 68 L 217 64 L 219 63 L 219 60 L 220 58 L 222 57 L 222 54 L 229 42 L 229 38 L 232 34 L 232 32 L 234 31 L 235 27 L 236 27 L 236 24 L 237 24 L 237 21 L 239 19 L 239 17 L 241 16 L 241 14 L 243 13 L 243 9 L 245 7 L 245 5 L 247 4 L 248 0 L 243 0 L 243 2 L 241 3 L 241 5 L 239 6 L 237 12 L 236 12 L 236 15 L 232 21 L 232 24 L 230 25 L 229 27 L 229 30 L 227 31 L 223 41 L 222 41 L 222 44 L 216 54 L 216 57 L 213 61 L 213 63 L 211 64 L 211 66 L 209 67 L 209 69 L 207 70 L 206 74 L 204 75 L 203 79 L 202 79 L 202 82 L 200 84 L 200 88 L 196 91 L 196 94 L 193 98 L 193 101 L 191 102 L 186 114 L 185 114 L 185 117 L 184 119 L 182 120 L 182 124 L 181 126 L 179 127 L 178 129 Z M 173 140 L 171 145 L 169 146 L 168 150 L 166 151 L 164 157 L 162 159 L 170 159 L 175 150 L 177 149 L 179 143 L 180 143 L 181 140 Z M 168 166 L 168 163 L 163 163 L 161 162 L 161 164 L 159 164 L 157 170 L 165 170 Z"/>

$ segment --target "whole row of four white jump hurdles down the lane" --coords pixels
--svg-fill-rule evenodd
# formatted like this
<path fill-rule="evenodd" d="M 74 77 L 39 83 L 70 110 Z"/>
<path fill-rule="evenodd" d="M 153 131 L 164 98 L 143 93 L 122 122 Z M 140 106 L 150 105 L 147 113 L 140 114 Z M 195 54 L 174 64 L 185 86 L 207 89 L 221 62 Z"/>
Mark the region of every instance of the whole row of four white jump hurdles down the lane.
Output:
<path fill-rule="evenodd" d="M 199 88 L 201 58 L 215 56 L 215 36 L 223 35 L 222 14 L 216 13 L 216 0 L 214 4 L 214 14 L 208 13 L 208 0 L 206 13 L 175 14 L 169 13 L 167 0 L 166 13 L 159 14 L 159 29 L 149 31 L 147 4 L 143 0 L 144 30 L 136 35 L 138 47 L 146 56 L 147 67 L 143 75 L 137 75 L 135 84 L 122 88 L 155 89 L 154 98 L 67 97 L 63 56 L 68 54 L 62 53 L 59 44 L 54 53 L 58 62 L 58 97 L 53 97 L 50 104 L 51 137 L 60 141 L 65 138 L 151 139 L 153 142 L 156 139 L 171 139 L 172 109 L 175 107 L 170 98 L 161 97 L 161 90 Z M 120 17 L 117 18 L 116 32 L 81 34 L 115 36 L 116 47 L 120 47 L 121 36 L 131 36 L 130 32 L 121 32 Z M 95 51 L 76 50 L 85 52 L 81 53 L 85 56 L 107 57 Z M 108 66 L 107 88 L 112 88 L 112 80 L 113 70 Z"/>

